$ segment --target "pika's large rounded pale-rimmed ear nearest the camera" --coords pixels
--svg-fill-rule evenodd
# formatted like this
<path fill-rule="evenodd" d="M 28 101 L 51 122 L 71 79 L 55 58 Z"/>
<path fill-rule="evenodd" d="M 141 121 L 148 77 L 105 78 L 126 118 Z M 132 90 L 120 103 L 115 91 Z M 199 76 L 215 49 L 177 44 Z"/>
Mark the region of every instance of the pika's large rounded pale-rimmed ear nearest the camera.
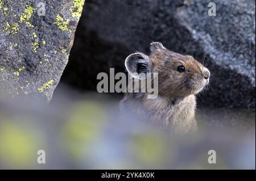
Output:
<path fill-rule="evenodd" d="M 130 54 L 125 60 L 125 67 L 129 73 L 148 73 L 151 72 L 151 61 L 146 54 L 141 52 Z M 140 78 L 138 75 L 131 74 L 134 78 Z"/>

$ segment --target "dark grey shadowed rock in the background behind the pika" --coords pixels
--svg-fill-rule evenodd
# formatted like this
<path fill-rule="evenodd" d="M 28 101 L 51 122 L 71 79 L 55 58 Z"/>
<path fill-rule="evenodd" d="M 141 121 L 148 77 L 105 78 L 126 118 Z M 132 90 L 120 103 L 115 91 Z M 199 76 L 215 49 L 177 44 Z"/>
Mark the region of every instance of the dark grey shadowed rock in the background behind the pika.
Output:
<path fill-rule="evenodd" d="M 128 54 L 162 41 L 210 69 L 201 103 L 255 108 L 255 1 L 216 0 L 216 16 L 209 2 L 88 0 L 63 81 L 95 90 L 98 72 L 124 71 Z"/>

